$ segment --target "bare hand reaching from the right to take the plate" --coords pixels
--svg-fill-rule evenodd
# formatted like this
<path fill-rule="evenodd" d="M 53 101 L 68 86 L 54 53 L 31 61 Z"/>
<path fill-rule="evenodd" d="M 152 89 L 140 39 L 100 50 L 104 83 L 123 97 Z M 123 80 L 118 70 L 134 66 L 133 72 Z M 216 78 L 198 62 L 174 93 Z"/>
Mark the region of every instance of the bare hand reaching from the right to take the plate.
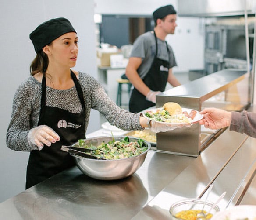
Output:
<path fill-rule="evenodd" d="M 199 124 L 204 125 L 206 128 L 220 129 L 230 126 L 231 112 L 217 108 L 206 108 L 202 110 L 200 114 L 204 116 L 203 119 L 199 121 Z"/>

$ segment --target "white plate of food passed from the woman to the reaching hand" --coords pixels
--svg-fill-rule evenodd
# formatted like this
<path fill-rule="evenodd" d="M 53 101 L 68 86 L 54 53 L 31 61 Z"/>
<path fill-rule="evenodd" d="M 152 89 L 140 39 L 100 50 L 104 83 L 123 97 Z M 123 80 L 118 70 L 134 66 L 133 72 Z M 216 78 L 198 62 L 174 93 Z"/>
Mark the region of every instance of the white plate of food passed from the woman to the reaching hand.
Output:
<path fill-rule="evenodd" d="M 142 115 L 149 120 L 171 125 L 195 124 L 203 118 L 199 111 L 189 108 L 181 108 L 181 110 L 181 113 L 170 115 L 164 108 L 156 108 L 146 110 Z"/>

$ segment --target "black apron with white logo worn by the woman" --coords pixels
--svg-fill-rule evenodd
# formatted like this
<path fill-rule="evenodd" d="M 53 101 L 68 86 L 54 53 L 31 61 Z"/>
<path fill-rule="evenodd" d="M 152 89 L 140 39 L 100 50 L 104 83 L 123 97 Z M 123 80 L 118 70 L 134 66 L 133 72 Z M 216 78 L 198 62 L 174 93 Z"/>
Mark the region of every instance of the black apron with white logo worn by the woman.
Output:
<path fill-rule="evenodd" d="M 74 159 L 68 152 L 61 151 L 61 145 L 70 145 L 85 139 L 85 102 L 82 88 L 71 71 L 71 77 L 75 83 L 79 100 L 82 105 L 80 113 L 71 113 L 56 107 L 46 106 L 46 78 L 42 79 L 41 110 L 39 125 L 51 127 L 59 136 L 60 141 L 44 146 L 41 151 L 30 152 L 26 175 L 26 189 L 42 182 L 45 179 L 75 165 Z"/>

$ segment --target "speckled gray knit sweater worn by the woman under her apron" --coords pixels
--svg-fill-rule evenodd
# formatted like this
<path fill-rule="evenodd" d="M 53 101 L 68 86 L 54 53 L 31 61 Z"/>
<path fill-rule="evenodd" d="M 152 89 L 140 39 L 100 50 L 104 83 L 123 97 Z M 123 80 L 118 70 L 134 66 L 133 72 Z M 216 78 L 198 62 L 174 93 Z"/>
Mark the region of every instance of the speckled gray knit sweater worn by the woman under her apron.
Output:
<path fill-rule="evenodd" d="M 85 100 L 85 132 L 91 108 L 100 111 L 110 124 L 123 130 L 142 130 L 139 113 L 130 113 L 119 108 L 92 76 L 79 72 L 78 81 Z M 13 100 L 10 124 L 7 129 L 7 147 L 15 151 L 32 151 L 28 144 L 28 131 L 37 127 L 41 103 L 41 83 L 30 76 L 18 87 Z M 79 113 L 81 103 L 75 86 L 67 90 L 46 88 L 46 105 Z"/>

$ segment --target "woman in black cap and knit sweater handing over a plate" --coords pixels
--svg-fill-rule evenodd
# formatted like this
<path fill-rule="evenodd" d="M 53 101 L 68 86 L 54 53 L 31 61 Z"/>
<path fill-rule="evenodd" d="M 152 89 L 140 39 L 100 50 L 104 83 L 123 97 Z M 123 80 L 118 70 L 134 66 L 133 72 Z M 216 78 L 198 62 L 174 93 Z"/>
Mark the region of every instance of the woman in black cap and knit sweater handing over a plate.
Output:
<path fill-rule="evenodd" d="M 26 189 L 74 165 L 60 147 L 85 138 L 91 108 L 121 129 L 148 127 L 139 113 L 120 109 L 110 100 L 92 76 L 71 70 L 78 56 L 78 36 L 67 19 L 40 24 L 30 39 L 36 58 L 31 76 L 15 93 L 6 136 L 9 148 L 30 151 Z M 155 131 L 172 129 L 151 125 Z"/>

